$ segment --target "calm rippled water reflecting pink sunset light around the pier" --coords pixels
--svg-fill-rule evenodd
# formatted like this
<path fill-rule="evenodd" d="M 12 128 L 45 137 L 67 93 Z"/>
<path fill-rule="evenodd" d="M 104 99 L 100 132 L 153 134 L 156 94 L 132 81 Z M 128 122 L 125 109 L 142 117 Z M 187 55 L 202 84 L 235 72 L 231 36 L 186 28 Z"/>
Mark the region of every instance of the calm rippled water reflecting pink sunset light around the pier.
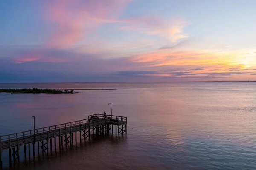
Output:
<path fill-rule="evenodd" d="M 256 169 L 256 83 L 0 84 L 0 88 L 116 88 L 79 94 L 0 94 L 0 135 L 110 113 L 128 133 L 24 158 L 25 170 Z M 8 151 L 7 151 L 8 153 Z M 8 169 L 8 154 L 3 153 Z M 13 169 L 13 168 L 12 168 Z"/>

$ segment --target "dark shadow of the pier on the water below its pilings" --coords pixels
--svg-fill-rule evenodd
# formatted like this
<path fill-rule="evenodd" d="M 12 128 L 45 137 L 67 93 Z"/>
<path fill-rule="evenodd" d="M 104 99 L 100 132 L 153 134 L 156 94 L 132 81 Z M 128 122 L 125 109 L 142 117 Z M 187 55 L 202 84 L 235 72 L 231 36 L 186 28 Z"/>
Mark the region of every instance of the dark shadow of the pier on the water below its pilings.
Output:
<path fill-rule="evenodd" d="M 75 159 L 81 155 L 82 159 L 84 159 L 84 155 L 87 157 L 87 154 L 88 157 L 92 159 L 98 159 L 98 155 L 101 154 L 102 151 L 108 152 L 108 147 L 116 147 L 116 145 L 126 141 L 126 134 L 118 135 L 114 132 L 99 136 L 92 135 L 90 139 L 82 139 L 81 141 L 78 136 L 77 140 L 75 140 L 75 138 L 73 139 L 73 143 L 62 144 L 62 146 L 60 146 L 57 142 L 56 147 L 54 144 L 52 144 L 51 147 L 49 142 L 48 151 L 43 152 L 40 148 L 39 153 L 36 149 L 38 146 L 35 144 L 35 154 L 33 154 L 33 147 L 30 149 L 26 147 L 26 151 L 24 147 L 20 147 L 20 161 L 17 159 L 14 161 L 13 156 L 11 161 L 8 160 L 9 151 L 5 150 L 3 152 L 3 161 L 5 162 L 5 164 L 3 164 L 3 170 L 41 170 L 45 169 L 45 166 L 50 166 L 50 164 L 54 164 L 56 161 L 64 161 L 65 159 L 74 159 L 75 165 Z M 98 161 L 101 160 L 98 159 Z M 70 168 L 72 167 L 67 167 L 67 169 Z"/>

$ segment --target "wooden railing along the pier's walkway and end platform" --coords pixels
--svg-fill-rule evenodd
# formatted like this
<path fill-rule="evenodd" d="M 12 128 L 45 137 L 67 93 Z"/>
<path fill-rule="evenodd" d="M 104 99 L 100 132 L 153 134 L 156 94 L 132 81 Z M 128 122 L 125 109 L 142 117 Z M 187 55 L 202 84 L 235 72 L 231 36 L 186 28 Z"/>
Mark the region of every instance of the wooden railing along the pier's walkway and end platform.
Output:
<path fill-rule="evenodd" d="M 23 132 L 19 132 L 19 133 L 12 133 L 12 134 L 8 134 L 8 135 L 3 135 L 3 136 L 0 136 L 0 140 L 1 140 L 1 142 L 4 142 L 4 141 L 12 140 L 12 139 L 17 139 L 19 137 L 38 135 L 40 133 L 49 132 L 51 130 L 62 129 L 63 125 L 65 127 L 72 127 L 72 125 L 76 125 L 76 126 L 77 125 L 84 125 L 86 123 L 89 123 L 89 119 L 91 119 L 92 116 L 97 116 L 98 118 L 99 117 L 103 118 L 103 114 L 93 114 L 93 115 L 89 115 L 88 119 L 82 119 L 82 120 L 77 120 L 77 121 L 73 121 L 73 122 L 68 122 L 68 123 L 63 123 L 63 124 L 58 124 L 58 125 L 52 125 L 52 126 L 47 126 L 47 127 L 41 127 L 41 128 L 35 129 L 35 131 L 33 129 L 33 130 L 27 130 L 27 131 L 23 131 Z M 107 119 L 111 119 L 111 115 L 106 115 L 106 116 L 107 116 Z M 112 115 L 112 119 L 116 119 L 116 120 L 121 119 L 121 121 L 123 122 L 123 121 L 126 121 L 127 117 Z"/>

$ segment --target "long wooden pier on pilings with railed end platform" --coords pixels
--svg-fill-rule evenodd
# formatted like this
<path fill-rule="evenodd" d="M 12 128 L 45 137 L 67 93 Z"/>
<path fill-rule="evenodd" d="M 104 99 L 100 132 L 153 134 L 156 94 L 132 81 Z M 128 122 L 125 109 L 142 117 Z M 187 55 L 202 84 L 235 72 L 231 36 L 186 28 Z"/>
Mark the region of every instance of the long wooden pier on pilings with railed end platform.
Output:
<path fill-rule="evenodd" d="M 75 141 L 77 142 L 78 132 L 81 142 L 83 138 L 84 140 L 90 139 L 91 134 L 98 136 L 115 131 L 119 135 L 126 133 L 126 130 L 127 117 L 107 115 L 104 118 L 103 114 L 93 114 L 89 115 L 88 119 L 0 136 L 0 169 L 3 167 L 3 150 L 9 149 L 9 162 L 12 162 L 12 160 L 20 162 L 19 150 L 21 146 L 24 146 L 25 156 L 26 146 L 28 146 L 30 156 L 30 144 L 32 144 L 32 152 L 33 156 L 35 156 L 35 150 L 38 153 L 40 150 L 43 154 L 48 153 L 48 146 L 50 145 L 50 148 L 52 148 L 52 139 L 54 139 L 54 147 L 56 149 L 56 139 L 59 147 L 63 145 L 63 142 L 65 145 L 73 144 L 73 135 L 75 134 Z M 37 148 L 35 148 L 35 145 L 37 145 Z"/>

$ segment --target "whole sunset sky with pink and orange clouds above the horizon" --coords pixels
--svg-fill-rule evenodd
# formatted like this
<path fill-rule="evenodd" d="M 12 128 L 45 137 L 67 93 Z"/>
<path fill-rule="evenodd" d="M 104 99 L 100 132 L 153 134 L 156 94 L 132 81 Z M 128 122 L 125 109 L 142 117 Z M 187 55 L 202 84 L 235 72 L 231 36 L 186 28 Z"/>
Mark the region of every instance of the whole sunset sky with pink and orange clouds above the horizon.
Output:
<path fill-rule="evenodd" d="M 256 81 L 255 0 L 1 0 L 1 82 Z"/>

